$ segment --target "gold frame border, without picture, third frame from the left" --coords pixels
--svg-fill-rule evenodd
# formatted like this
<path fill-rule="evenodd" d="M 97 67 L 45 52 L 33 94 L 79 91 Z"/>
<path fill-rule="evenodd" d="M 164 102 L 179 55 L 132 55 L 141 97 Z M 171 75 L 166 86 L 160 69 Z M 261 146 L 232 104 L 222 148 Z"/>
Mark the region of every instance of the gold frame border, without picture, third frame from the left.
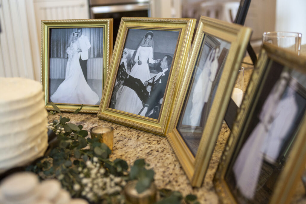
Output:
<path fill-rule="evenodd" d="M 186 95 L 188 95 L 188 85 L 197 61 L 196 59 L 201 51 L 200 46 L 204 34 L 230 42 L 231 46 L 211 106 L 211 111 L 207 118 L 207 123 L 202 132 L 200 145 L 196 157 L 194 157 L 176 127 L 181 114 L 182 104 Z M 173 113 L 174 117 L 169 121 L 167 132 L 167 138 L 185 170 L 188 179 L 191 181 L 192 186 L 200 187 L 203 183 L 250 35 L 250 28 L 208 17 L 202 16 L 200 18 L 181 92 L 177 97 L 177 101 L 174 103 L 176 104 Z"/>

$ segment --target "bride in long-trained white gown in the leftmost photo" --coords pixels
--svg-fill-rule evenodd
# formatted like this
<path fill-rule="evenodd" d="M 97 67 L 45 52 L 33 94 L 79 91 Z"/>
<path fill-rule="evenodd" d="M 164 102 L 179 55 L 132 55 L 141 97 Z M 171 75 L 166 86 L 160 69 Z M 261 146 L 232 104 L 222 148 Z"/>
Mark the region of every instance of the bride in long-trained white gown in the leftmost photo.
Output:
<path fill-rule="evenodd" d="M 54 103 L 88 104 L 95 105 L 99 102 L 99 96 L 91 90 L 86 82 L 81 66 L 79 42 L 77 32 L 73 32 L 69 39 L 68 62 L 66 65 L 65 80 L 58 86 L 50 99 Z"/>

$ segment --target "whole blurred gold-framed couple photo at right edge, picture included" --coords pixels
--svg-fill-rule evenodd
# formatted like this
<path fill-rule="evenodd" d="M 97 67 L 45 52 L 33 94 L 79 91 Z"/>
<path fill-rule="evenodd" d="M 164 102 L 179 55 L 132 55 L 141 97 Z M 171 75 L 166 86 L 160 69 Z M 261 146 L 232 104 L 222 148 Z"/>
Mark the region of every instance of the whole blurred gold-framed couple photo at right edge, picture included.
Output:
<path fill-rule="evenodd" d="M 305 67 L 305 57 L 263 45 L 213 180 L 223 203 L 290 203 L 306 163 Z"/>

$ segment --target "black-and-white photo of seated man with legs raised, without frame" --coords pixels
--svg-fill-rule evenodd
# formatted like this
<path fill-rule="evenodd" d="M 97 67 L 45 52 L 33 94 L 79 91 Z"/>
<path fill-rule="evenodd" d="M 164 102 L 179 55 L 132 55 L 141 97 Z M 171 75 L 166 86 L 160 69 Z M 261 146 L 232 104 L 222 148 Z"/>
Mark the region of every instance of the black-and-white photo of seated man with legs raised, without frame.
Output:
<path fill-rule="evenodd" d="M 110 108 L 159 118 L 178 31 L 129 29 Z"/>

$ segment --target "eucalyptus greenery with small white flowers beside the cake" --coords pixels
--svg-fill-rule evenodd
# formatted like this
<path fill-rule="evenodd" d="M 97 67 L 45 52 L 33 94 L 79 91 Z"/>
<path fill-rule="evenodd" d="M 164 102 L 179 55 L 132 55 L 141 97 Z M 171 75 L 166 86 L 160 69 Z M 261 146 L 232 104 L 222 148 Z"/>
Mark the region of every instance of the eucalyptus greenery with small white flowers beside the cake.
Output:
<path fill-rule="evenodd" d="M 57 135 L 58 145 L 35 164 L 29 165 L 27 170 L 37 173 L 42 179 L 57 178 L 73 197 L 84 197 L 92 202 L 114 200 L 110 197 L 118 196 L 129 179 L 126 161 L 110 161 L 111 150 L 106 144 L 100 143 L 98 138 L 88 137 L 88 131 L 83 130 L 82 125 L 69 123 L 70 119 L 62 117 L 55 104 L 51 105 L 60 114 L 59 120 L 48 125 Z M 72 114 L 79 113 L 82 107 Z M 97 190 L 95 194 L 94 190 Z"/>

